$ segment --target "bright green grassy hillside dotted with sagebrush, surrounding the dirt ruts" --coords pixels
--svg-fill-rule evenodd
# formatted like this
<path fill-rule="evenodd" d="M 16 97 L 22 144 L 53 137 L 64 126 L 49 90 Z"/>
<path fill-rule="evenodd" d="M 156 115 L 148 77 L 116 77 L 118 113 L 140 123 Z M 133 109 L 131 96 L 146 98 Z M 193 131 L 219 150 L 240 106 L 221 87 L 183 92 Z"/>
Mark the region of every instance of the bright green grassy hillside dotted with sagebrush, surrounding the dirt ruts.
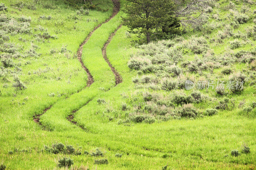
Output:
<path fill-rule="evenodd" d="M 219 0 L 206 13 L 204 26 L 138 48 L 132 43 L 135 35 L 122 26 L 107 46 L 107 57 L 123 79 L 115 85 L 101 50 L 122 23 L 127 2 L 120 0 L 117 15 L 83 46 L 82 60 L 94 78 L 90 87 L 76 52 L 88 33 L 111 16 L 111 0 L 93 1 L 103 10 L 85 9 L 89 14 L 84 15 L 61 0 L 1 2 L 8 7 L 0 11 L 0 165 L 6 169 L 61 169 L 57 164 L 64 157 L 73 160 L 69 169 L 255 169 L 254 2 Z M 240 16 L 243 9 L 248 18 Z M 15 52 L 7 51 L 6 43 L 13 43 Z M 139 69 L 131 67 L 132 60 Z M 179 75 L 173 76 L 173 68 Z M 16 91 L 15 76 L 26 89 Z M 183 87 L 187 79 L 208 83 L 241 77 L 239 92 Z M 177 96 L 186 100 L 177 102 Z M 207 115 L 212 108 L 216 113 Z M 73 111 L 77 124 L 67 120 Z M 33 116 L 43 112 L 39 125 Z M 59 143 L 65 148 L 56 151 L 52 144 Z M 103 156 L 95 156 L 96 148 Z"/>

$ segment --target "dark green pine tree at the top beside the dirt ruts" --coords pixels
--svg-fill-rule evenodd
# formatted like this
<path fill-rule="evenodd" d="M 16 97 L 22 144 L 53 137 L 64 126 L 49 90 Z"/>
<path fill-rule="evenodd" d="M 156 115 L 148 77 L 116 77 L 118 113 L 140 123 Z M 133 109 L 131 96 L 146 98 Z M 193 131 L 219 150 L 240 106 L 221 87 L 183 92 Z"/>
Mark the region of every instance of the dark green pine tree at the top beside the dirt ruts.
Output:
<path fill-rule="evenodd" d="M 129 0 L 129 2 L 129 5 L 125 6 L 127 17 L 123 18 L 124 25 L 133 33 L 144 34 L 148 43 L 155 33 L 160 32 L 162 34 L 160 36 L 166 38 L 180 33 L 180 22 L 173 15 L 173 1 Z"/>

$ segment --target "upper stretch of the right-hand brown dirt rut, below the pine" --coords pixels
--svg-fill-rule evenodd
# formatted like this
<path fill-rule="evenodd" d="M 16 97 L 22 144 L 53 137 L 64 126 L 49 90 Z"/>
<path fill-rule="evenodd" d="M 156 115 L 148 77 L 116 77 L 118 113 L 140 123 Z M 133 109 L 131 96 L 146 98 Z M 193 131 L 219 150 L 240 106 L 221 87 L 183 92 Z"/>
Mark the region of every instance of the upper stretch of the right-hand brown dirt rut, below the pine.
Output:
<path fill-rule="evenodd" d="M 107 46 L 108 44 L 110 43 L 110 41 L 112 40 L 112 38 L 114 37 L 114 35 L 116 34 L 116 31 L 121 28 L 122 25 L 118 26 L 116 28 L 116 30 L 110 34 L 110 36 L 108 37 L 108 41 L 105 42 L 103 48 L 102 48 L 102 55 L 103 55 L 103 58 L 105 59 L 105 61 L 108 63 L 108 66 L 110 67 L 110 69 L 112 70 L 112 72 L 114 73 L 115 75 L 115 79 L 116 79 L 116 85 L 118 85 L 119 83 L 122 83 L 123 79 L 121 77 L 121 75 L 116 71 L 115 67 L 112 66 L 112 64 L 109 62 L 108 60 L 108 57 L 107 57 Z"/>

